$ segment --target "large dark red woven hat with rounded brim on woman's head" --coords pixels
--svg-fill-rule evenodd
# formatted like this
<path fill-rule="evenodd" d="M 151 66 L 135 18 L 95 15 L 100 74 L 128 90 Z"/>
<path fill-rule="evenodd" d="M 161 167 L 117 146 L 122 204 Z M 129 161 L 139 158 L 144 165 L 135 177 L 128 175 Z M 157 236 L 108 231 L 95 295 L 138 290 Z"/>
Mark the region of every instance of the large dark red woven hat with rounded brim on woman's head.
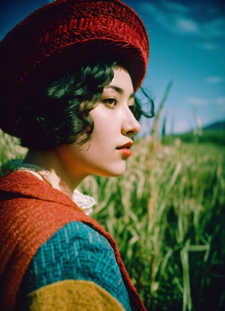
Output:
<path fill-rule="evenodd" d="M 37 9 L 0 42 L 0 128 L 18 136 L 24 98 L 68 70 L 110 57 L 129 70 L 134 89 L 149 54 L 139 16 L 119 0 L 57 0 Z"/>

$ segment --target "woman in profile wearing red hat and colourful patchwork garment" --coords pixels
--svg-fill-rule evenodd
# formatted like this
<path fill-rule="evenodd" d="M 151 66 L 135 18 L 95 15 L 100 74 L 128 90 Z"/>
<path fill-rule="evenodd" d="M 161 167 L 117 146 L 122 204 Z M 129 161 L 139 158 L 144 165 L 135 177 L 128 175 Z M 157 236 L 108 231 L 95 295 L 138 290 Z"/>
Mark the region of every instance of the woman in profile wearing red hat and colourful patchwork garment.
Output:
<path fill-rule="evenodd" d="M 124 172 L 148 49 L 119 0 L 57 0 L 2 40 L 0 128 L 29 151 L 0 179 L 1 310 L 145 310 L 76 187 Z"/>

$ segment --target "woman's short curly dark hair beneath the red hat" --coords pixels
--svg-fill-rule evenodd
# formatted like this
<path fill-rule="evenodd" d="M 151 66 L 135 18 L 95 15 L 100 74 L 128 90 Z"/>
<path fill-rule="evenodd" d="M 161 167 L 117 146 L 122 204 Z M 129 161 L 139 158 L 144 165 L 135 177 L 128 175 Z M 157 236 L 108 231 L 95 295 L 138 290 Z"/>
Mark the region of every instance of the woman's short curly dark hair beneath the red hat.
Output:
<path fill-rule="evenodd" d="M 86 132 L 90 139 L 94 122 L 90 111 L 96 107 L 104 86 L 113 78 L 116 62 L 99 61 L 82 66 L 40 90 L 32 101 L 23 105 L 18 120 L 21 128 L 21 146 L 33 150 L 51 150 L 72 144 L 79 134 Z M 145 94 L 147 96 L 147 94 Z M 150 114 L 144 113 L 135 97 L 133 114 L 137 120 L 154 115 L 153 100 Z"/>

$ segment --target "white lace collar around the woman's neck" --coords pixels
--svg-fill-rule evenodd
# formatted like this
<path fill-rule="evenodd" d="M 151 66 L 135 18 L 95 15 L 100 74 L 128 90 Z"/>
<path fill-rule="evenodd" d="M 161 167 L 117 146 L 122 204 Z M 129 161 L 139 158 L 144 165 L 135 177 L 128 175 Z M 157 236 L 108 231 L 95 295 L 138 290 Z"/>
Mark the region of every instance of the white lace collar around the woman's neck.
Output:
<path fill-rule="evenodd" d="M 53 188 L 62 191 L 65 184 L 62 185 L 61 179 L 53 171 L 46 170 L 34 164 L 21 163 L 14 170 L 28 171 L 39 179 L 48 182 Z M 75 189 L 72 193 L 72 200 L 82 209 L 86 215 L 90 215 L 93 205 L 96 204 L 95 199 L 89 195 L 85 195 Z"/>

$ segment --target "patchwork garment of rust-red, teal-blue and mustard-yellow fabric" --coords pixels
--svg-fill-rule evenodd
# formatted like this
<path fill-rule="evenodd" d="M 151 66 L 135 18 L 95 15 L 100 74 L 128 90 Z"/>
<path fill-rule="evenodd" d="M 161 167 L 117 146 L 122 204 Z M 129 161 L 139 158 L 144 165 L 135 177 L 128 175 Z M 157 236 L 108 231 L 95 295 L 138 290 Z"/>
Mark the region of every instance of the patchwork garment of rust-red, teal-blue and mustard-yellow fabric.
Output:
<path fill-rule="evenodd" d="M 0 178 L 1 310 L 146 310 L 116 243 L 30 172 Z"/>

